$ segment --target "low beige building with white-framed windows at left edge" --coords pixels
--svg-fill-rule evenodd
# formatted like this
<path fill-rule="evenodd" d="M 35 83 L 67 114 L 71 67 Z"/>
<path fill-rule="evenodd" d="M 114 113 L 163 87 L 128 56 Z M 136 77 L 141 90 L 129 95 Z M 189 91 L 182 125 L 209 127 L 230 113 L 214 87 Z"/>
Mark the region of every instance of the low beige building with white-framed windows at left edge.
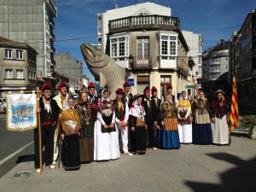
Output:
<path fill-rule="evenodd" d="M 0 37 L 0 95 L 14 90 L 36 90 L 37 51 Z"/>

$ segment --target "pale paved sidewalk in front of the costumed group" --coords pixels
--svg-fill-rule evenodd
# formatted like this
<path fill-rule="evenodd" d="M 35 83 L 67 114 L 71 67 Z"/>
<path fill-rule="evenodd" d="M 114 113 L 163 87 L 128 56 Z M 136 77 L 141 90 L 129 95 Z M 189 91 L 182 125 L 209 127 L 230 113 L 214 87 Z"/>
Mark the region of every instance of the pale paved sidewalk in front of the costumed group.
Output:
<path fill-rule="evenodd" d="M 19 192 L 173 191 L 254 192 L 256 141 L 231 137 L 231 146 L 183 144 L 178 150 L 149 150 L 145 155 L 121 155 L 119 160 L 84 164 L 79 171 L 63 168 L 33 171 L 33 161 L 21 162 L 0 179 L 0 190 Z M 16 172 L 30 177 L 13 177 Z"/>

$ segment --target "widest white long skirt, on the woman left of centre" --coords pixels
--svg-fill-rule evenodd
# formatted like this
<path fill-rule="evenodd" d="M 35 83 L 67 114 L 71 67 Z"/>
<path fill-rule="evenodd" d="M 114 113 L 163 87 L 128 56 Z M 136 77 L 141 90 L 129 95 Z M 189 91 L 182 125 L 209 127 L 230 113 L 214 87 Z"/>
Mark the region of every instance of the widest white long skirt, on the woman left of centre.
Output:
<path fill-rule="evenodd" d="M 94 160 L 119 159 L 119 131 L 102 133 L 102 124 L 96 120 L 94 130 Z"/>

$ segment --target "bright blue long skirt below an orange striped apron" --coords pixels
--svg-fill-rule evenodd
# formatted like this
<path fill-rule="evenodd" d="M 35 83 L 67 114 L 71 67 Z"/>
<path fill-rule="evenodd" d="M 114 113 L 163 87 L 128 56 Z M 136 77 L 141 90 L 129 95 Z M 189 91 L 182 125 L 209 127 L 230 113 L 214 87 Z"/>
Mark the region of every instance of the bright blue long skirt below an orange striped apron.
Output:
<path fill-rule="evenodd" d="M 158 131 L 159 148 L 180 148 L 178 131 L 166 131 L 165 126 L 161 126 Z"/>

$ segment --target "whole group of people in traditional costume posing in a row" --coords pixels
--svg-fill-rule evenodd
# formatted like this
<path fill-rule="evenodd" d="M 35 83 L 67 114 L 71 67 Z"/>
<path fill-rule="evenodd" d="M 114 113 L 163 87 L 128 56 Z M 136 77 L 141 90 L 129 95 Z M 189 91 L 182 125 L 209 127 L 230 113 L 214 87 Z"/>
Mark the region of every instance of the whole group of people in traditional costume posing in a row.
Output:
<path fill-rule="evenodd" d="M 67 94 L 67 84 L 58 85 L 59 95 L 51 99 L 51 86 L 41 87 L 39 100 L 42 148 L 45 166 L 55 168 L 60 160 L 65 170 L 78 170 L 81 163 L 117 160 L 120 153 L 128 156 L 145 154 L 147 148 L 180 148 L 180 143 L 225 145 L 229 143 L 229 108 L 224 91 L 217 90 L 209 103 L 199 90 L 192 103 L 186 92 L 182 97 L 172 95 L 167 84 L 166 95 L 158 98 L 157 89 L 148 86 L 143 95 L 132 96 L 130 84 L 115 91 L 96 96 L 95 84 L 88 92 L 79 93 L 79 101 Z M 150 94 L 151 93 L 151 94 Z M 34 130 L 35 169 L 39 169 L 39 135 Z"/>

